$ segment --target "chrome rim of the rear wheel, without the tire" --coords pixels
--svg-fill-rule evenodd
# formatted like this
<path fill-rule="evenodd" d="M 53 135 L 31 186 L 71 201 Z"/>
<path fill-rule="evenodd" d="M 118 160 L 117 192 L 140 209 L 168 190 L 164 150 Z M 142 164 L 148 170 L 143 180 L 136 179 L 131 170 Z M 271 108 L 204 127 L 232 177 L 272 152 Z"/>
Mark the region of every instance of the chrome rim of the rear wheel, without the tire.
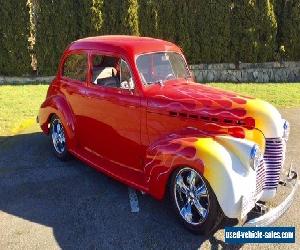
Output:
<path fill-rule="evenodd" d="M 51 126 L 51 137 L 54 149 L 57 153 L 62 154 L 65 152 L 66 147 L 64 128 L 59 119 L 54 119 Z"/>

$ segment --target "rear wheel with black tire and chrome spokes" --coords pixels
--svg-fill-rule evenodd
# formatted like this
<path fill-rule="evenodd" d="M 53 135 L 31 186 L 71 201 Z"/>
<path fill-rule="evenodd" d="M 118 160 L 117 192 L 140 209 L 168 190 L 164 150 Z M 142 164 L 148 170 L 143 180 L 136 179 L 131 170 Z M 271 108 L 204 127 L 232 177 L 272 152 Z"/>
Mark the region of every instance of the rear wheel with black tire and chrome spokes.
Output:
<path fill-rule="evenodd" d="M 60 124 L 61 130 L 62 130 L 62 136 L 64 138 L 64 143 L 61 143 L 61 146 L 58 147 L 58 145 L 55 145 L 55 139 L 54 139 L 54 133 L 57 134 L 57 124 Z M 62 138 L 62 137 L 60 137 Z M 68 152 L 68 146 L 67 146 L 67 137 L 65 136 L 65 128 L 58 118 L 58 116 L 53 115 L 51 117 L 50 121 L 50 143 L 52 146 L 52 150 L 56 157 L 60 159 L 61 161 L 66 161 L 70 158 L 70 154 Z"/>

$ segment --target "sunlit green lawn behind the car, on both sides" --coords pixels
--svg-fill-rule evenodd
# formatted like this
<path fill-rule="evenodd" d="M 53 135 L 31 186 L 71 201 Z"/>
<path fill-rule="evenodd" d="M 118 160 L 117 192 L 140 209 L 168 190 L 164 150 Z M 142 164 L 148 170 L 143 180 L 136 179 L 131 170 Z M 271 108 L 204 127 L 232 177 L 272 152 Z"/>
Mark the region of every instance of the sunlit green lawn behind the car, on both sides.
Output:
<path fill-rule="evenodd" d="M 300 107 L 300 83 L 231 84 L 215 87 L 251 95 L 277 107 Z M 0 136 L 12 135 L 35 122 L 48 85 L 0 85 Z"/>

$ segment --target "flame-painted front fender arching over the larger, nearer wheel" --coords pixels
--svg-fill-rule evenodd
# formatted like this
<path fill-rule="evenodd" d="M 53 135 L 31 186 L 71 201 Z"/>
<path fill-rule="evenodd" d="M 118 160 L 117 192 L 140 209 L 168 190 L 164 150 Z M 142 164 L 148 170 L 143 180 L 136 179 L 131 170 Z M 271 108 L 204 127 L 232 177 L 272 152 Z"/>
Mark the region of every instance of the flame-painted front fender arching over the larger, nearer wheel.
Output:
<path fill-rule="evenodd" d="M 169 138 L 152 146 L 146 159 L 149 192 L 156 198 L 163 197 L 171 173 L 182 166 L 192 167 L 206 178 L 230 218 L 240 217 L 243 195 L 255 190 L 255 172 L 217 137 Z"/>

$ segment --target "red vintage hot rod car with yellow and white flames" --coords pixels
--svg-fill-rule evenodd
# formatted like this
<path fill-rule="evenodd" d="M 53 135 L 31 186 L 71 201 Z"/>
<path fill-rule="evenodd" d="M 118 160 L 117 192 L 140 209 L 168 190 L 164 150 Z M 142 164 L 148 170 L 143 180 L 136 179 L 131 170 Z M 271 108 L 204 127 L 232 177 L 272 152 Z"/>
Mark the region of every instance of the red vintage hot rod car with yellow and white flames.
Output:
<path fill-rule="evenodd" d="M 58 158 L 72 154 L 157 199 L 169 194 L 180 220 L 202 234 L 224 216 L 268 225 L 297 188 L 295 171 L 280 179 L 289 123 L 277 109 L 195 83 L 180 48 L 163 40 L 71 43 L 37 120 Z M 291 191 L 269 208 L 279 184 Z"/>

